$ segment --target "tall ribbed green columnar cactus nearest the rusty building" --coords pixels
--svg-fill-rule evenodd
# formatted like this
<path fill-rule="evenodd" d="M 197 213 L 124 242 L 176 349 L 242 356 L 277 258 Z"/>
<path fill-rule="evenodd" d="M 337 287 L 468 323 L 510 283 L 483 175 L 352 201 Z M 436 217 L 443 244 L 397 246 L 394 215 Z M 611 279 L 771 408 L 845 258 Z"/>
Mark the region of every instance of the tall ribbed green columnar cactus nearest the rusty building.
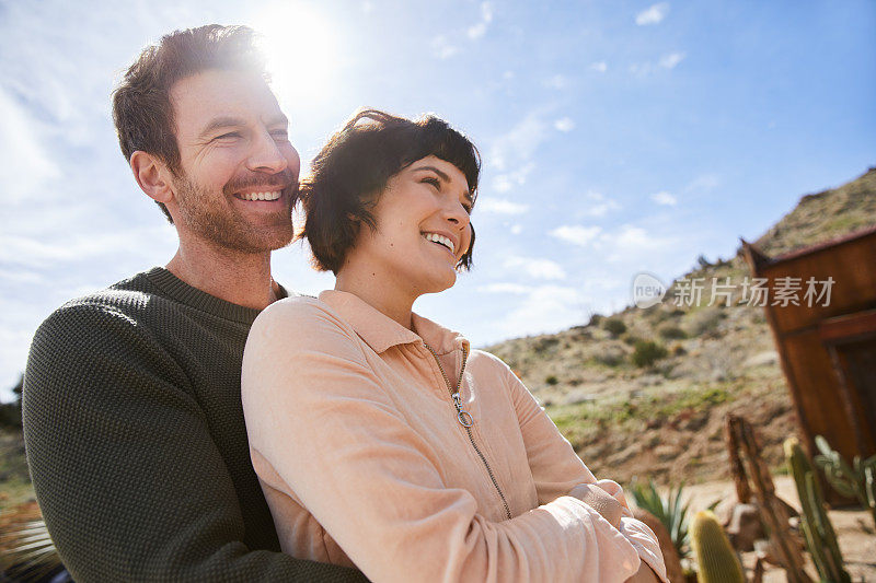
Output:
<path fill-rule="evenodd" d="M 795 438 L 785 440 L 785 457 L 800 499 L 800 529 L 806 538 L 806 547 L 821 581 L 851 583 L 852 579 L 843 569 L 842 555 L 837 545 L 837 535 L 830 523 L 821 487 L 812 470 L 809 458 Z"/>

